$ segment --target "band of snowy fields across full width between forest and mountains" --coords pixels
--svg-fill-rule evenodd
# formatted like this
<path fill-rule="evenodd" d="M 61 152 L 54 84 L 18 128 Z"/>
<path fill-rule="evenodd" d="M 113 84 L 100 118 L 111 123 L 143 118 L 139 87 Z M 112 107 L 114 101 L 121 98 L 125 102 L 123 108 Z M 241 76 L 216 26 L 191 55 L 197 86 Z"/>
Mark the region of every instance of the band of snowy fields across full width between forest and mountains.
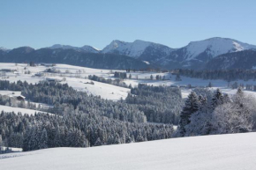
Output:
<path fill-rule="evenodd" d="M 89 75 L 96 75 L 102 78 L 113 78 L 114 71 L 124 71 L 124 70 L 100 70 L 100 69 L 91 69 L 86 67 L 79 67 L 79 66 L 73 66 L 73 65 L 67 65 L 67 64 L 56 64 L 54 67 L 48 67 L 48 66 L 37 66 L 37 67 L 30 67 L 27 66 L 26 63 L 0 63 L 1 69 L 15 69 L 17 70 L 15 73 L 6 73 L 6 76 L 9 78 L 2 78 L 9 80 L 11 82 L 13 81 L 27 81 L 28 83 L 38 83 L 41 80 L 45 80 L 46 78 L 56 78 L 56 79 L 63 79 L 66 78 L 66 81 L 64 83 L 67 83 L 68 85 L 71 85 L 73 88 L 88 92 L 96 96 L 102 96 L 103 99 L 107 100 L 120 100 L 121 98 L 125 99 L 128 95 L 128 92 L 130 92 L 130 89 L 124 88 L 124 87 L 118 87 L 115 85 L 108 85 L 100 82 L 94 82 L 94 85 L 87 84 L 90 83 L 91 80 L 87 79 Z M 25 74 L 25 68 L 26 70 L 30 70 L 31 74 Z M 54 68 L 56 70 L 59 70 L 60 73 L 47 73 L 43 77 L 36 77 L 34 74 L 42 72 L 46 69 Z M 129 76 L 130 73 L 128 73 Z M 220 88 L 222 92 L 228 93 L 228 94 L 234 94 L 237 92 L 237 90 L 233 90 L 227 87 L 228 82 L 224 80 L 205 80 L 200 78 L 186 78 L 182 77 L 182 81 L 176 81 L 176 76 L 171 75 L 170 73 L 156 73 L 156 72 L 135 72 L 131 73 L 132 79 L 125 79 L 124 83 L 126 85 L 139 85 L 139 83 L 144 83 L 147 85 L 192 85 L 192 86 L 207 86 L 209 82 L 212 83 L 213 88 L 212 90 L 215 90 L 216 88 Z M 154 80 L 150 80 L 150 76 L 154 76 Z M 165 76 L 166 80 L 155 80 L 156 75 L 161 75 L 162 77 Z M 137 79 L 138 78 L 138 79 Z M 234 82 L 230 82 L 234 83 Z M 243 81 L 239 80 L 237 81 L 238 84 L 252 84 L 256 85 L 255 81 L 249 80 L 249 81 Z M 191 92 L 190 89 L 182 89 L 182 96 L 186 98 L 188 94 Z M 253 95 L 256 95 L 256 92 L 249 92 Z"/>

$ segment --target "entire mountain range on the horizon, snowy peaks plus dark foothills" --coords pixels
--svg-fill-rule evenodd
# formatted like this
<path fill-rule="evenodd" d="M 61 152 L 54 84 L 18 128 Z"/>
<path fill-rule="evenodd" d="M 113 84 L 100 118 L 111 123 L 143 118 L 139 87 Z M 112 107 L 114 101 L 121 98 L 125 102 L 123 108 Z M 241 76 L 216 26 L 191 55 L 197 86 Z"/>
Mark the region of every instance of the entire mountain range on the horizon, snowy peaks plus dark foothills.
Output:
<path fill-rule="evenodd" d="M 228 38 L 214 37 L 204 41 L 192 41 L 183 48 L 169 48 L 168 46 L 149 41 L 136 40 L 133 42 L 125 42 L 115 40 L 110 42 L 110 44 L 102 50 L 93 48 L 91 46 L 83 46 L 79 48 L 72 47 L 69 45 L 56 44 L 48 48 L 41 48 L 37 50 L 26 47 L 22 49 L 23 54 L 21 55 L 27 54 L 27 52 L 30 53 L 34 51 L 32 53 L 34 54 L 34 59 L 37 59 L 38 55 L 40 54 L 41 62 L 47 59 L 47 61 L 51 63 L 53 63 L 54 61 L 54 55 L 57 54 L 62 54 L 57 55 L 57 57 L 60 60 L 59 62 L 62 61 L 63 63 L 66 63 L 67 61 L 72 61 L 72 63 L 79 63 L 79 60 L 81 61 L 82 58 L 86 57 L 87 59 L 90 59 L 83 60 L 83 62 L 81 62 L 80 65 L 83 63 L 84 66 L 96 66 L 102 67 L 102 69 L 127 69 L 128 67 L 133 69 L 139 69 L 140 67 L 159 67 L 162 69 L 183 68 L 196 70 L 217 70 L 230 68 L 252 69 L 253 66 L 256 66 L 256 60 L 255 62 L 253 60 L 253 62 L 250 64 L 246 62 L 249 61 L 249 54 L 250 58 L 256 58 L 255 50 L 253 49 L 256 49 L 255 45 L 247 44 L 245 42 L 236 41 Z M 15 52 L 14 54 L 19 55 L 17 54 L 19 53 L 19 48 L 12 50 L 0 48 L 0 51 L 2 51 L 0 53 L 0 61 L 3 62 L 5 60 L 10 62 L 11 59 L 6 56 L 10 55 L 10 53 L 13 54 L 12 51 Z M 52 54 L 49 55 L 49 53 L 47 53 L 48 55 L 43 55 L 42 51 L 50 51 L 50 53 Z M 81 58 L 79 58 L 78 56 Z M 98 57 L 97 61 L 95 61 L 95 56 Z M 111 58 L 111 56 L 113 57 Z M 236 58 L 236 60 L 233 59 L 234 57 Z M 12 62 L 18 62 L 17 60 L 20 61 L 22 57 L 19 57 L 19 59 L 15 59 L 15 56 L 11 55 L 11 58 Z M 25 60 L 25 58 L 23 59 Z M 108 58 L 111 61 L 113 61 L 114 58 L 118 58 L 117 60 L 119 62 L 122 61 L 122 63 L 117 64 L 117 67 L 111 68 L 112 66 L 110 66 L 109 63 L 102 62 L 103 60 L 106 62 L 106 58 Z M 33 58 L 31 58 L 31 60 L 32 59 Z M 129 60 L 129 62 L 127 62 L 127 60 Z M 225 60 L 225 65 L 222 65 L 222 63 L 220 62 L 222 60 Z M 87 61 L 87 63 L 85 61 Z M 232 64 L 227 64 L 231 61 Z M 127 63 L 129 64 L 126 65 Z M 137 63 L 136 67 L 133 67 L 132 64 L 135 63 Z M 148 63 L 150 63 L 150 65 L 148 65 Z M 242 67 L 241 65 L 244 66 Z"/>

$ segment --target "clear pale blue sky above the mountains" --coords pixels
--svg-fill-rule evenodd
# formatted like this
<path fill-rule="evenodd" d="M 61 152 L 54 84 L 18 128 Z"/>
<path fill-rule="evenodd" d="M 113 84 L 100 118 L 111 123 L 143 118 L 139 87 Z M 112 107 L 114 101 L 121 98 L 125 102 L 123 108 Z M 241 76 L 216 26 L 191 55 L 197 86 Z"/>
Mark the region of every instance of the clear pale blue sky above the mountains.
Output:
<path fill-rule="evenodd" d="M 0 0 L 0 47 L 142 40 L 181 48 L 211 37 L 256 45 L 255 9 L 255 0 Z"/>

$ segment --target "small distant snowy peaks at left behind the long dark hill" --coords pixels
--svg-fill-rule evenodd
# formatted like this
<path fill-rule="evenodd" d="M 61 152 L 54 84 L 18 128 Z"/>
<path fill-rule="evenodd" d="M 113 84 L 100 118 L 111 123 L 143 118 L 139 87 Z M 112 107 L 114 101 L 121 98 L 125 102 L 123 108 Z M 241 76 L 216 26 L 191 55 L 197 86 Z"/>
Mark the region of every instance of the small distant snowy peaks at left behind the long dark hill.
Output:
<path fill-rule="evenodd" d="M 55 44 L 55 45 L 53 45 L 49 48 L 51 48 L 51 49 L 56 49 L 56 48 L 74 49 L 74 50 L 77 50 L 77 51 L 83 51 L 83 52 L 87 52 L 87 53 L 99 53 L 98 49 L 93 48 L 91 46 L 83 46 L 81 48 L 78 48 L 78 47 L 73 47 L 73 46 L 70 46 L 70 45 Z"/>

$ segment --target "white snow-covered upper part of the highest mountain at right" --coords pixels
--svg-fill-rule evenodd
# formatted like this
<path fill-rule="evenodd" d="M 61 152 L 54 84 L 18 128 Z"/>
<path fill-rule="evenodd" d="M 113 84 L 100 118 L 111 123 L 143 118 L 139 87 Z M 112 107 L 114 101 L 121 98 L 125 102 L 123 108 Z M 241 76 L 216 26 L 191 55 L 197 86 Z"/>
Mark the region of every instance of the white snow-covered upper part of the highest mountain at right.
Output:
<path fill-rule="evenodd" d="M 184 48 L 186 49 L 184 58 L 192 60 L 202 53 L 215 57 L 225 53 L 256 48 L 256 46 L 232 39 L 215 37 L 205 41 L 192 41 Z"/>

